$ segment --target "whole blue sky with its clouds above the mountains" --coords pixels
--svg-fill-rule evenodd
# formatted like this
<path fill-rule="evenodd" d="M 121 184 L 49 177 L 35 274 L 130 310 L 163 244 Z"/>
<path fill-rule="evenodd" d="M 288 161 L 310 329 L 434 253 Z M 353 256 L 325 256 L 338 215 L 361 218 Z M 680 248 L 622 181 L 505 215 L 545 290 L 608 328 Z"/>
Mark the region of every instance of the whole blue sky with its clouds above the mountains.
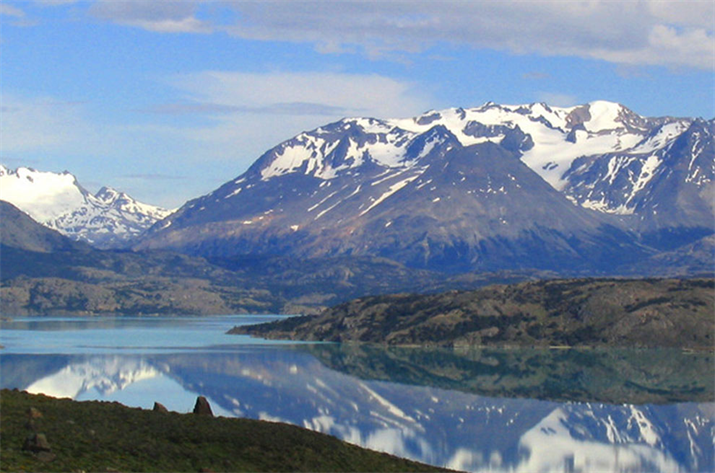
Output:
<path fill-rule="evenodd" d="M 178 206 L 344 116 L 715 117 L 715 2 L 0 2 L 0 162 Z"/>

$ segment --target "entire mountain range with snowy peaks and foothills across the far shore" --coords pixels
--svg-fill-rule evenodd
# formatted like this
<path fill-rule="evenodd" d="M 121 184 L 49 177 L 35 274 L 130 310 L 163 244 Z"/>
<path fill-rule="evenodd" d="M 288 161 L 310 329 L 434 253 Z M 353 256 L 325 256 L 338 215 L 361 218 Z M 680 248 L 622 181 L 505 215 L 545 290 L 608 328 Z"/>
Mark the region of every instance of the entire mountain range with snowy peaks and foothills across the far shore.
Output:
<path fill-rule="evenodd" d="M 707 276 L 714 128 L 609 102 L 344 119 L 171 214 L 0 167 L 0 306 L 308 313 L 559 276 Z"/>

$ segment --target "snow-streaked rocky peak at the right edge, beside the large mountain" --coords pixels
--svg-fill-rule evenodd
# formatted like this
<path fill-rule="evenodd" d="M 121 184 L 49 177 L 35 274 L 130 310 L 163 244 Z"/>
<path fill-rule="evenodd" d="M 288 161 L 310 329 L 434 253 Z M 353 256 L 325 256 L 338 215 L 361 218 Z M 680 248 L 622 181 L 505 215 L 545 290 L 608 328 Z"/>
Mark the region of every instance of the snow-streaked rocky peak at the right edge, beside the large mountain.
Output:
<path fill-rule="evenodd" d="M 579 157 L 563 191 L 586 208 L 638 215 L 646 226 L 713 227 L 713 128 L 704 120 L 668 121 L 630 149 Z"/>

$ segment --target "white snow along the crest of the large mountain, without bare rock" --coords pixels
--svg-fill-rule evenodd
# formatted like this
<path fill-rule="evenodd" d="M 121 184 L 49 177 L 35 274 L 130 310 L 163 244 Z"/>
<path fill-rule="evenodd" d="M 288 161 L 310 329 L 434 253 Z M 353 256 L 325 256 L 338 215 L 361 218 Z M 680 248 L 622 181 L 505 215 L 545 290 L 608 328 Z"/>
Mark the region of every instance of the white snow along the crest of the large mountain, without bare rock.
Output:
<path fill-rule="evenodd" d="M 580 118 L 573 118 L 574 115 Z M 554 188 L 562 190 L 567 184 L 563 179 L 564 174 L 575 159 L 615 151 L 625 153 L 627 150 L 631 150 L 631 153 L 651 153 L 670 143 L 689 124 L 684 120 L 666 123 L 655 136 L 644 141 L 646 130 L 628 125 L 628 117 L 637 116 L 620 104 L 595 101 L 580 107 L 563 108 L 541 103 L 487 103 L 471 109 L 430 111 L 407 119 L 350 118 L 299 135 L 276 153 L 275 159 L 262 170 L 261 176 L 266 180 L 304 167 L 306 174 L 332 179 L 341 171 L 360 167 L 366 162 L 366 157 L 382 167 L 408 167 L 428 155 L 436 140 L 428 142 L 424 151 L 410 162 L 405 161 L 408 144 L 435 126 L 445 127 L 463 146 L 484 142 L 499 144 L 505 138 L 503 133 L 494 136 L 467 133 L 467 126 L 475 123 L 512 130 L 518 127 L 529 135 L 534 146 L 523 154 L 522 161 Z M 581 129 L 572 129 L 576 126 Z M 348 130 L 352 127 L 360 128 L 366 135 L 366 141 L 358 144 L 350 139 L 349 149 L 342 159 L 343 164 L 330 164 L 328 158 L 338 143 L 333 130 Z M 572 136 L 569 138 L 570 133 Z"/>

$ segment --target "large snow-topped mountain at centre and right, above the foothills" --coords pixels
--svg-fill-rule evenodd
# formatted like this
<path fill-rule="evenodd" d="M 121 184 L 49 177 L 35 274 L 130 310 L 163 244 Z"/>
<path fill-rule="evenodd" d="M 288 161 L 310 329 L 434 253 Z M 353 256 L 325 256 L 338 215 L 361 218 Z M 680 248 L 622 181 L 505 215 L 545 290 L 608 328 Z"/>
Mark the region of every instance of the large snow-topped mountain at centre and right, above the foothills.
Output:
<path fill-rule="evenodd" d="M 344 119 L 269 150 L 137 247 L 613 270 L 715 232 L 714 127 L 603 101 Z"/>

